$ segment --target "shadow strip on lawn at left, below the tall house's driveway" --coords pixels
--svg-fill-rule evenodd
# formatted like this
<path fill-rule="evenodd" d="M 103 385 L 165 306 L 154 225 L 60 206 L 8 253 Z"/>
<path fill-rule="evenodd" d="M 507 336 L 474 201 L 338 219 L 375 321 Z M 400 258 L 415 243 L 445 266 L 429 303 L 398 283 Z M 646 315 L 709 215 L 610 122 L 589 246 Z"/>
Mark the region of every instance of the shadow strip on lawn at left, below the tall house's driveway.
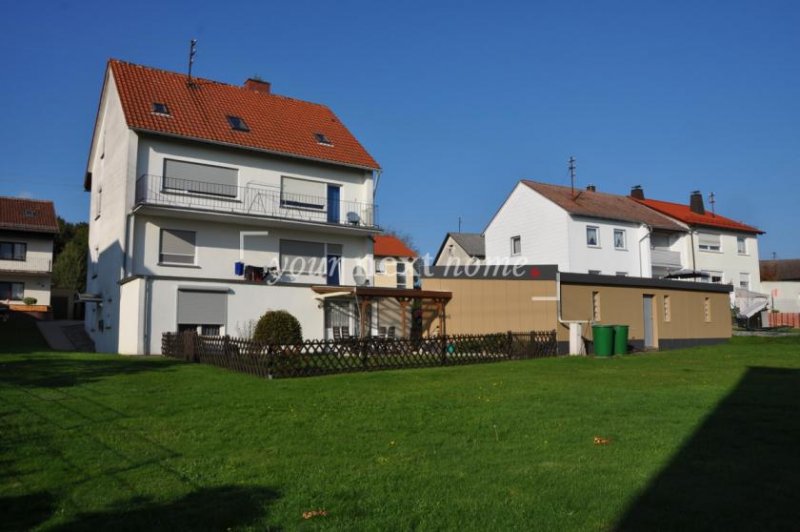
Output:
<path fill-rule="evenodd" d="M 179 361 L 161 357 L 119 357 L 97 355 L 103 358 L 76 359 L 48 354 L 41 358 L 32 355 L 23 360 L 3 362 L 0 359 L 0 383 L 36 388 L 66 388 L 95 382 L 107 377 L 130 375 L 148 371 L 172 370 Z"/>

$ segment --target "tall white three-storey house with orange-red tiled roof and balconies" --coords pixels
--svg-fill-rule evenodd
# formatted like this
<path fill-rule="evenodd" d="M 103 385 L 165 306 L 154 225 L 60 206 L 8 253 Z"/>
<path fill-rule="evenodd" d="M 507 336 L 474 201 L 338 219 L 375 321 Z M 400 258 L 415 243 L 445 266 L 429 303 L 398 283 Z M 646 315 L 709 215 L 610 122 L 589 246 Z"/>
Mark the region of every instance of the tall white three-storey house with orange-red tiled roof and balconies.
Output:
<path fill-rule="evenodd" d="M 269 309 L 325 337 L 329 303 L 371 283 L 378 171 L 324 105 L 111 60 L 84 183 L 97 350 L 242 335 Z"/>

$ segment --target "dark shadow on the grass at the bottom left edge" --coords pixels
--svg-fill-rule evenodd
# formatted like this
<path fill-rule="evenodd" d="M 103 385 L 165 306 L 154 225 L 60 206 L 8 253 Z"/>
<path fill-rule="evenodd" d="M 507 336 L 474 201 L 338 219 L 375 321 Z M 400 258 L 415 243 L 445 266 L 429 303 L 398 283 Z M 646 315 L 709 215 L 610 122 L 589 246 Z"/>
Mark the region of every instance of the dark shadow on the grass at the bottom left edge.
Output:
<path fill-rule="evenodd" d="M 262 523 L 279 496 L 258 486 L 204 488 L 175 501 L 132 500 L 122 508 L 78 514 L 49 530 L 230 530 L 255 522 L 259 530 L 280 530 Z"/>

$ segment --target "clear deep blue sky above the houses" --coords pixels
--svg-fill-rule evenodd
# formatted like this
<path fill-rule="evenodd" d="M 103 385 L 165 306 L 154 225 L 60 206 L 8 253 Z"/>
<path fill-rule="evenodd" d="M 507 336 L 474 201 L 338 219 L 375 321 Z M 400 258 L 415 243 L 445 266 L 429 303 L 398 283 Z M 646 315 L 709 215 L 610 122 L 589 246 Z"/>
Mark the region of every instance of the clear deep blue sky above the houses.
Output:
<path fill-rule="evenodd" d="M 88 217 L 115 57 L 328 104 L 381 163 L 380 222 L 435 253 L 517 180 L 686 202 L 800 257 L 800 3 L 15 2 L 0 19 L 0 195 Z"/>

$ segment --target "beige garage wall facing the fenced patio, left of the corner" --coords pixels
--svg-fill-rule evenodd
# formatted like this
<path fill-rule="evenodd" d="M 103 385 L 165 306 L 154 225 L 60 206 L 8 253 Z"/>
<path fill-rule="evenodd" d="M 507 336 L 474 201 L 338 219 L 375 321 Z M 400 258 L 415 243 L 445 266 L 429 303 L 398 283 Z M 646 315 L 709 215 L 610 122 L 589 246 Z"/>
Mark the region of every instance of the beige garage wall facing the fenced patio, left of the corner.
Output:
<path fill-rule="evenodd" d="M 423 290 L 452 292 L 447 304 L 448 334 L 548 331 L 556 328 L 556 302 L 536 297 L 556 295 L 555 281 L 433 279 Z"/>

